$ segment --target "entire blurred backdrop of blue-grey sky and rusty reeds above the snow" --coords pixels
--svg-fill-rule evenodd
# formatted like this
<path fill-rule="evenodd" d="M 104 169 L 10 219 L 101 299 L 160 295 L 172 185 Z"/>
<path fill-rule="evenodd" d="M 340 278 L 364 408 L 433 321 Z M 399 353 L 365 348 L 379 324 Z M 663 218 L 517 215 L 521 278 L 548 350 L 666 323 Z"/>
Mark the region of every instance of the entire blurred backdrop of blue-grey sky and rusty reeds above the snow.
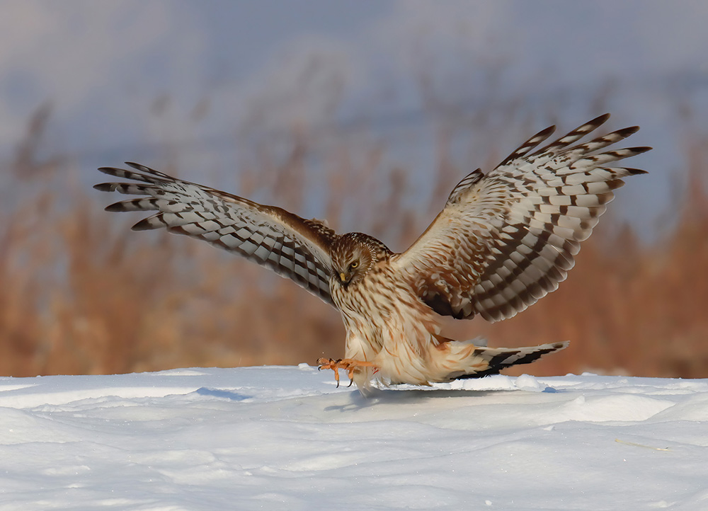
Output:
<path fill-rule="evenodd" d="M 609 111 L 649 174 L 559 291 L 445 333 L 572 341 L 520 372 L 708 377 L 707 23 L 704 1 L 0 1 L 0 374 L 343 355 L 319 299 L 103 212 L 98 166 L 404 250 L 466 173 Z"/>

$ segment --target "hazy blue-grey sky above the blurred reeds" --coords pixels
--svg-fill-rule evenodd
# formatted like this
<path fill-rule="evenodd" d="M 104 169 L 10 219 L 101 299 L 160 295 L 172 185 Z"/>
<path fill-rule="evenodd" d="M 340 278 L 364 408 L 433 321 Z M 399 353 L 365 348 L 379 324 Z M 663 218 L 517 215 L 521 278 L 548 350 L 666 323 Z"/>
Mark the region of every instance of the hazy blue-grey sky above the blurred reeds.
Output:
<path fill-rule="evenodd" d="M 477 166 L 490 137 L 510 151 L 530 129 L 610 110 L 612 128 L 641 125 L 632 142 L 655 147 L 632 161 L 650 175 L 615 206 L 651 237 L 676 207 L 687 126 L 708 130 L 702 1 L 6 0 L 0 11 L 0 161 L 50 105 L 43 147 L 86 183 L 96 166 L 159 168 L 168 152 L 198 180 L 237 168 L 253 139 L 275 144 L 293 125 L 336 138 L 362 118 L 423 180 L 430 104 L 537 114 L 532 127 L 500 114 L 463 131 Z"/>

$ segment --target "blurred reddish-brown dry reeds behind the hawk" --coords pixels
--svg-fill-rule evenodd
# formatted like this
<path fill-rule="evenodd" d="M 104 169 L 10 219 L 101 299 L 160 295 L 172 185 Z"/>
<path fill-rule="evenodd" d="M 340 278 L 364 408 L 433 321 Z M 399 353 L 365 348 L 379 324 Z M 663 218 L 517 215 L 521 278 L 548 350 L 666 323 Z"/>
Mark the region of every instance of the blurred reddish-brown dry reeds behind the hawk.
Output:
<path fill-rule="evenodd" d="M 297 364 L 343 354 L 338 313 L 319 299 L 205 244 L 132 232 L 137 216 L 103 212 L 119 197 L 79 184 L 70 162 L 38 164 L 42 122 L 34 121 L 3 181 L 4 197 L 13 189 L 26 193 L 1 212 L 0 374 Z M 484 124 L 478 119 L 476 130 Z M 448 133 L 439 131 L 438 168 L 422 212 L 413 206 L 420 197 L 412 196 L 411 173 L 387 158 L 373 134 L 332 144 L 319 161 L 326 173 L 318 174 L 308 157 L 312 134 L 293 130 L 284 155 L 253 151 L 235 188 L 246 196 L 266 190 L 269 202 L 303 212 L 312 200 L 307 190 L 324 176 L 324 197 L 317 198 L 331 225 L 368 231 L 402 249 L 469 171 L 452 162 Z M 511 320 L 451 323 L 447 334 L 485 335 L 491 345 L 508 346 L 572 341 L 512 374 L 708 377 L 706 142 L 695 139 L 685 149 L 690 178 L 670 234 L 646 246 L 613 224 L 611 205 L 559 291 Z M 496 149 L 476 166 L 489 168 L 501 156 Z M 160 170 L 200 180 L 194 171 Z"/>

